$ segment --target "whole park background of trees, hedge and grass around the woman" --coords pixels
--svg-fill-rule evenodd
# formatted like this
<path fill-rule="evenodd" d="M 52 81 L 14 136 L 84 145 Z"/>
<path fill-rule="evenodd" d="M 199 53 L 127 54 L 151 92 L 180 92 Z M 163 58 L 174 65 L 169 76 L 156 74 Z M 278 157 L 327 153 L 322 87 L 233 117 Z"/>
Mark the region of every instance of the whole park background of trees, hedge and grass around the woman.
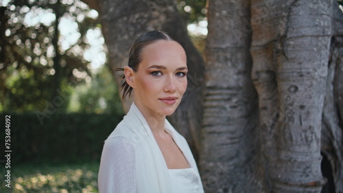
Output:
<path fill-rule="evenodd" d="M 169 120 L 206 192 L 343 191 L 339 3 L 0 1 L 0 114 L 2 125 L 11 116 L 12 150 L 12 188 L 1 158 L 0 191 L 97 192 L 103 142 L 130 103 L 115 67 L 147 29 L 186 49 L 189 87 Z"/>

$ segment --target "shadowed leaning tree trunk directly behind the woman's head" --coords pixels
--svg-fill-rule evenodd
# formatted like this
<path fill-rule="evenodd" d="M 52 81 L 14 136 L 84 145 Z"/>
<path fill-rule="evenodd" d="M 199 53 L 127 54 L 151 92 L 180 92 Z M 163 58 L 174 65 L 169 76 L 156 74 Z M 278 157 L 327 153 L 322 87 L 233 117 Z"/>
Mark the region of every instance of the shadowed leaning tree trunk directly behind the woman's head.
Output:
<path fill-rule="evenodd" d="M 178 15 L 174 1 L 104 0 L 99 2 L 99 10 L 102 31 L 108 45 L 110 68 L 115 77 L 121 75 L 115 68 L 123 68 L 128 64 L 128 51 L 131 44 L 145 31 L 152 29 L 167 31 L 185 48 L 189 86 L 182 103 L 169 120 L 185 136 L 197 157 L 200 144 L 198 133 L 202 116 L 200 102 L 204 62 L 188 37 L 185 23 Z M 119 85 L 121 83 L 122 81 L 118 82 Z M 123 107 L 126 112 L 131 102 L 132 97 L 124 100 Z"/>

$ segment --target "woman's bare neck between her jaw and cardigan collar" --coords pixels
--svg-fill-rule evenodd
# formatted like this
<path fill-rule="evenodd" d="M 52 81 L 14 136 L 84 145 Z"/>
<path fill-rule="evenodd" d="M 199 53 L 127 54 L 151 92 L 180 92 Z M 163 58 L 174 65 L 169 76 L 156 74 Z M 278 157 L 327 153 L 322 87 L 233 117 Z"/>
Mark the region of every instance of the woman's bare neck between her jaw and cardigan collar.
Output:
<path fill-rule="evenodd" d="M 149 125 L 152 133 L 154 135 L 158 135 L 161 138 L 165 137 L 165 115 L 158 114 L 157 112 L 153 112 L 143 104 L 134 101 L 134 104 L 137 106 L 141 114 L 143 114 L 145 120 L 147 121 L 147 125 Z"/>

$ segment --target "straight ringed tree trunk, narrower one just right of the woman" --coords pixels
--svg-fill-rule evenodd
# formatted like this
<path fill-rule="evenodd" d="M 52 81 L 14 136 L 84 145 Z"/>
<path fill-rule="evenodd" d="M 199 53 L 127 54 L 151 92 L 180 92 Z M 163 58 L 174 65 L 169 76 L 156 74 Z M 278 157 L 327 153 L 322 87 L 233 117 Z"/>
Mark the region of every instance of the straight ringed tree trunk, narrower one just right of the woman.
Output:
<path fill-rule="evenodd" d="M 209 1 L 200 170 L 206 192 L 256 192 L 250 3 Z"/>

